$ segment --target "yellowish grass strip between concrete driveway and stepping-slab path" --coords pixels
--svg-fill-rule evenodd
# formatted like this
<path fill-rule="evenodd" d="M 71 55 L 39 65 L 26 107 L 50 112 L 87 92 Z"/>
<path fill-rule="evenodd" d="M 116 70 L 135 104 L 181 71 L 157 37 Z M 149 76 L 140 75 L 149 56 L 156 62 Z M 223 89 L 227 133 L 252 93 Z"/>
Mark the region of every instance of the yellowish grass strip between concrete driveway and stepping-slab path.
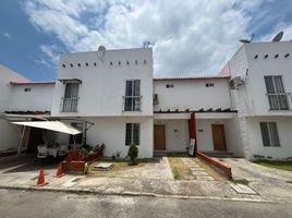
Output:
<path fill-rule="evenodd" d="M 168 155 L 168 161 L 174 180 L 194 180 L 196 177 L 192 170 L 182 161 L 182 159 L 174 155 Z"/>

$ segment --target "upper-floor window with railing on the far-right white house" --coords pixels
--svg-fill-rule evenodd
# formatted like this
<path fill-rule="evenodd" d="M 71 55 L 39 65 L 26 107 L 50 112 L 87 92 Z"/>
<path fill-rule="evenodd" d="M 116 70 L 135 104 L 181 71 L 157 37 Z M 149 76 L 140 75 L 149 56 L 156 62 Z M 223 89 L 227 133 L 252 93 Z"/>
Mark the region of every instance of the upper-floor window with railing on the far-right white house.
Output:
<path fill-rule="evenodd" d="M 282 76 L 268 75 L 265 76 L 267 96 L 270 110 L 289 110 L 288 96 L 284 92 Z"/>

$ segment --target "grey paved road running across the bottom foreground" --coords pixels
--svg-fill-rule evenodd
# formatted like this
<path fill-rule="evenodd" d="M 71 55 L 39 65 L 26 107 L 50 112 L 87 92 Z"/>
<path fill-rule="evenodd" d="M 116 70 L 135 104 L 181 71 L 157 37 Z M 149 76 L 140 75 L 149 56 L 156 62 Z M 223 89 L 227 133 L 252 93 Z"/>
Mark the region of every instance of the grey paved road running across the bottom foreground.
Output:
<path fill-rule="evenodd" d="M 291 202 L 76 195 L 0 190 L 1 218 L 41 217 L 292 217 Z"/>

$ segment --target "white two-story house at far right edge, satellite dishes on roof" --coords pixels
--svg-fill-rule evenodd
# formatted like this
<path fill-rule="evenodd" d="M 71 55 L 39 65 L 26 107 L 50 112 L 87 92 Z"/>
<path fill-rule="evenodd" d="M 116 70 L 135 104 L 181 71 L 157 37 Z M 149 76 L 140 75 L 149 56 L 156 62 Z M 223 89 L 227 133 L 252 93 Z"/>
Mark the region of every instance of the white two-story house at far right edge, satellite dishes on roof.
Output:
<path fill-rule="evenodd" d="M 291 41 L 243 44 L 227 63 L 238 155 L 292 157 L 291 51 Z"/>

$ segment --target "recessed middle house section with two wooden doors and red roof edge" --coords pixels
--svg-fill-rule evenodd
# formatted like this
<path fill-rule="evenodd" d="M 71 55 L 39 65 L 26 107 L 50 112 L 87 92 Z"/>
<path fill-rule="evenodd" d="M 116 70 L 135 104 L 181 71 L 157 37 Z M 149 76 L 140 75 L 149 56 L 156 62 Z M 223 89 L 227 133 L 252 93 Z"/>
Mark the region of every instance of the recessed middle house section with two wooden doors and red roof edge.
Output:
<path fill-rule="evenodd" d="M 202 152 L 233 150 L 228 74 L 154 81 L 155 149 L 184 152 L 190 137 Z M 194 129 L 191 128 L 193 114 Z"/>

